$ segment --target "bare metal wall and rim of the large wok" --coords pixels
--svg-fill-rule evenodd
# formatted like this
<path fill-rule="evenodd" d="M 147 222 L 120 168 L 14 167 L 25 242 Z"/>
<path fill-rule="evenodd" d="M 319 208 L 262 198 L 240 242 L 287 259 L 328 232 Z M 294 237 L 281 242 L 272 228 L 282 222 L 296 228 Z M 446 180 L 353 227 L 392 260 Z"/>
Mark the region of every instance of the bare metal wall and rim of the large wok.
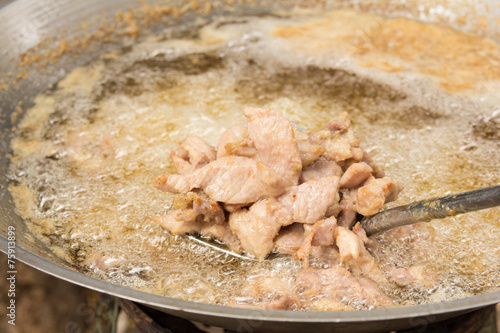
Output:
<path fill-rule="evenodd" d="M 465 15 L 465 29 L 477 27 L 480 22 L 484 28 L 481 33 L 492 38 L 498 36 L 500 28 L 496 25 L 500 8 L 492 1 L 227 1 L 221 6 L 212 6 L 210 14 L 232 15 L 260 14 L 272 9 L 288 10 L 295 5 L 322 6 L 322 8 L 354 7 L 362 10 L 372 10 L 382 13 L 414 16 L 427 10 L 423 17 L 429 21 L 453 17 L 452 14 Z M 146 3 L 148 3 L 146 1 Z M 171 18 L 167 23 L 158 23 L 148 27 L 150 32 L 160 29 L 165 24 L 184 24 L 201 15 L 183 1 L 171 1 L 186 9 L 178 17 Z M 204 5 L 204 2 L 199 1 Z M 408 328 L 425 328 L 426 325 L 458 316 L 500 302 L 500 291 L 490 292 L 459 300 L 433 303 L 427 305 L 380 309 L 355 312 L 292 312 L 292 311 L 260 311 L 202 304 L 173 299 L 128 287 L 114 285 L 80 273 L 70 263 L 58 258 L 35 235 L 24 221 L 16 214 L 14 203 L 7 186 L 7 169 L 9 140 L 13 134 L 12 128 L 16 120 L 22 116 L 19 110 L 27 109 L 30 100 L 37 93 L 46 89 L 64 77 L 77 66 L 83 65 L 96 55 L 123 47 L 130 42 L 130 36 L 115 34 L 106 43 L 97 43 L 78 52 L 67 52 L 57 57 L 43 69 L 36 66 L 19 67 L 21 55 L 28 49 L 40 43 L 45 47 L 57 47 L 57 43 L 44 40 L 44 36 L 64 36 L 67 40 L 81 37 L 84 34 L 81 22 L 86 19 L 88 31 L 97 29 L 99 18 L 105 18 L 103 12 L 115 14 L 119 9 L 140 6 L 134 0 L 0 0 L 0 250 L 7 252 L 8 231 L 15 230 L 15 256 L 36 269 L 51 274 L 63 280 L 94 289 L 120 298 L 132 300 L 154 307 L 165 313 L 196 320 L 209 325 L 221 326 L 242 332 L 302 332 L 315 330 L 331 332 L 333 330 L 349 332 L 392 331 Z M 427 6 L 427 7 L 426 7 Z M 206 7 L 207 8 L 207 7 Z M 432 14 L 434 13 L 434 14 Z M 444 13 L 444 14 L 443 14 Z M 471 14 L 474 13 L 474 14 Z M 440 14 L 443 14 L 440 16 Z M 434 15 L 434 16 L 433 16 Z M 96 19 L 91 19 L 97 17 Z M 111 17 L 111 16 L 110 16 Z M 485 21 L 486 20 L 486 21 Z M 453 24 L 453 22 L 450 22 Z M 497 30 L 495 30 L 495 27 Z M 496 34 L 496 35 L 495 35 Z M 140 38 L 140 36 L 139 36 Z M 44 47 L 44 45 L 42 45 Z M 24 71 L 24 72 L 23 72 Z M 11 75 L 7 73 L 11 72 Z M 23 78 L 15 82 L 18 73 Z M 22 104 L 20 104 L 22 102 Z M 21 109 L 19 108 L 21 107 Z M 2 264 L 2 269 L 5 266 Z"/>

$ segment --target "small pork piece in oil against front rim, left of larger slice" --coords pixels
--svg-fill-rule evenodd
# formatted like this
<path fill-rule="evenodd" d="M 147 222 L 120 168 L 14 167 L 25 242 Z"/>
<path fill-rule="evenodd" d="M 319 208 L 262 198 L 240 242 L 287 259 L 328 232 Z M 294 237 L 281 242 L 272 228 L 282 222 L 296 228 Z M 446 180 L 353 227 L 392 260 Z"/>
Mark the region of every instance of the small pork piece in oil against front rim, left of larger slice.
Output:
<path fill-rule="evenodd" d="M 252 279 L 242 293 L 242 300 L 235 300 L 230 305 L 264 310 L 299 310 L 301 307 L 293 283 L 280 277 Z M 257 305 L 249 304 L 248 301 Z"/>

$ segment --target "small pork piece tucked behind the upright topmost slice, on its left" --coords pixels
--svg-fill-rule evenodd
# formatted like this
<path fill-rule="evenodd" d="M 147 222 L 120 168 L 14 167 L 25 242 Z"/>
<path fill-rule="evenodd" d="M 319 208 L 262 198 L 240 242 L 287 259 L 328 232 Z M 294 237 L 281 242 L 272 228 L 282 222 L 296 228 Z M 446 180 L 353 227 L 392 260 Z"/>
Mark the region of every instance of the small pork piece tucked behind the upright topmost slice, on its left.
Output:
<path fill-rule="evenodd" d="M 222 134 L 217 146 L 217 158 L 226 155 L 254 157 L 256 154 L 257 149 L 248 136 L 247 126 L 244 124 L 228 127 Z"/>

